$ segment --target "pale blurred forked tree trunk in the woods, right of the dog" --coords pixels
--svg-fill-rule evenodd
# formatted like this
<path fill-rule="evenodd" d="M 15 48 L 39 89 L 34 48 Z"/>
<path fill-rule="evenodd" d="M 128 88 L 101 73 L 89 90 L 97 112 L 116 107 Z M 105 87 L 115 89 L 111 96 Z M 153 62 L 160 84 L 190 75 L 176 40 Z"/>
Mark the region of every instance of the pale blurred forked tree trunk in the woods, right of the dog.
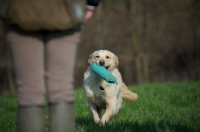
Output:
<path fill-rule="evenodd" d="M 137 78 L 137 84 L 149 83 L 149 65 L 148 65 L 148 45 L 146 41 L 146 26 L 147 26 L 147 17 L 146 17 L 146 0 L 142 1 L 143 4 L 143 25 L 142 25 L 142 42 L 139 44 L 138 34 L 137 34 L 137 0 L 128 0 L 125 1 L 127 6 L 129 21 L 130 21 L 130 30 L 131 30 L 131 45 L 132 45 L 132 58 L 135 62 L 135 72 Z"/>

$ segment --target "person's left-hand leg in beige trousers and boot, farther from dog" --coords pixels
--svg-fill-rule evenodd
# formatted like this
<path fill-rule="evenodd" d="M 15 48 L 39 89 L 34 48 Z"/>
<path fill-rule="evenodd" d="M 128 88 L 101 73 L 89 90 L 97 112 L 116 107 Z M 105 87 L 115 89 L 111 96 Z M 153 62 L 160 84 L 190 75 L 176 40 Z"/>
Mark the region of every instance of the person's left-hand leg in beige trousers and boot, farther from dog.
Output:
<path fill-rule="evenodd" d="M 7 32 L 18 90 L 17 131 L 44 132 L 44 44 L 42 35 Z"/>

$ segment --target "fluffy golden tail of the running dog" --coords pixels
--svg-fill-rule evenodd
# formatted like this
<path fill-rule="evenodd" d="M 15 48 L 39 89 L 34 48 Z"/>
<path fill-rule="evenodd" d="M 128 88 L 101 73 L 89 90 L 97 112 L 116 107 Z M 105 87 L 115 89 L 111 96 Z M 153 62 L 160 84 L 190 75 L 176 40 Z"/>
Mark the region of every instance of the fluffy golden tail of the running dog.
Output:
<path fill-rule="evenodd" d="M 127 102 L 134 102 L 138 99 L 138 95 L 129 90 L 125 84 L 122 86 L 123 99 Z"/>

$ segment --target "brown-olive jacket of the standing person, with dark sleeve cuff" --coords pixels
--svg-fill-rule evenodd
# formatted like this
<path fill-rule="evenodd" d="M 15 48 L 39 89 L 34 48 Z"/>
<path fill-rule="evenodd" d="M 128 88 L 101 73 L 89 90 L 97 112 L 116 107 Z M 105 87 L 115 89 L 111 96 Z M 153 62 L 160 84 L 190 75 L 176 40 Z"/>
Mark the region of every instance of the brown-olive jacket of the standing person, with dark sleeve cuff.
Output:
<path fill-rule="evenodd" d="M 74 29 L 81 22 L 80 13 L 85 10 L 80 4 L 76 10 L 77 2 L 84 3 L 83 0 L 0 0 L 0 16 L 24 30 Z M 87 0 L 90 6 L 96 7 L 99 3 L 100 0 Z"/>

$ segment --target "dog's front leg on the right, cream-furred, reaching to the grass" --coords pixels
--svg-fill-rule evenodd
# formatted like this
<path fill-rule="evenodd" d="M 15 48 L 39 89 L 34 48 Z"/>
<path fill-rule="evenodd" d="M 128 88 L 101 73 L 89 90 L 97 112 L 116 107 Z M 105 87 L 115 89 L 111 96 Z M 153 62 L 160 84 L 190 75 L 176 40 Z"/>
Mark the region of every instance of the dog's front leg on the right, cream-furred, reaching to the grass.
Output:
<path fill-rule="evenodd" d="M 107 100 L 106 111 L 101 118 L 102 125 L 104 125 L 106 122 L 110 120 L 111 117 L 114 116 L 116 105 L 117 105 L 116 99 L 109 98 Z"/>

